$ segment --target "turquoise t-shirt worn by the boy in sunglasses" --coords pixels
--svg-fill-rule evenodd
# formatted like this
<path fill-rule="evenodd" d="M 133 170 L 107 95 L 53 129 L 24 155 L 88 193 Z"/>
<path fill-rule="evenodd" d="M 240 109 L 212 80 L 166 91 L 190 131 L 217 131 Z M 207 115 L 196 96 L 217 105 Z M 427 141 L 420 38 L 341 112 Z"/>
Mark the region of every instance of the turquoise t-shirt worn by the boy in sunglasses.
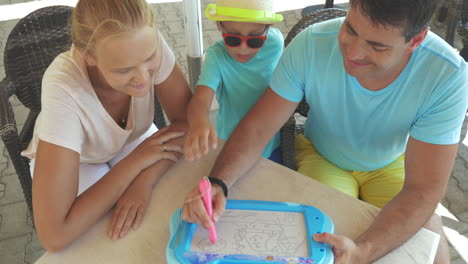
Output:
<path fill-rule="evenodd" d="M 220 40 L 206 50 L 197 85 L 216 92 L 219 112 L 216 117 L 218 137 L 227 140 L 240 120 L 269 86 L 271 74 L 283 52 L 283 35 L 270 27 L 260 51 L 247 63 L 233 59 Z M 262 156 L 270 157 L 279 146 L 279 133 L 265 147 Z"/>

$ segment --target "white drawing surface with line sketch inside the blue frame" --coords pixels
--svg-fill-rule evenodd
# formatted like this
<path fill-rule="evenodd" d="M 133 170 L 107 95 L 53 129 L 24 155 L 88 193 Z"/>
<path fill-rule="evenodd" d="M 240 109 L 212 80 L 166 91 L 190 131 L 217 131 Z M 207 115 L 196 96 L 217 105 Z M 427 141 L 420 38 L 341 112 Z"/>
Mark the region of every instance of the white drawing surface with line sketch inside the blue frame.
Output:
<path fill-rule="evenodd" d="M 307 257 L 304 215 L 297 212 L 227 210 L 216 224 L 218 242 L 197 227 L 190 251 Z"/>

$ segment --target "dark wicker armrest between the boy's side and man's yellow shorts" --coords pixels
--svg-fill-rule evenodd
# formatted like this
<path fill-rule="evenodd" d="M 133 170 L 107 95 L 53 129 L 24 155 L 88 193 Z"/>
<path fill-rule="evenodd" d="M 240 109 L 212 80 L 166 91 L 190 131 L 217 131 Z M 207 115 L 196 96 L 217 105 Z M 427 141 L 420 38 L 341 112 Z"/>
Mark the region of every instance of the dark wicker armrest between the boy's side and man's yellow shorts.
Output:
<path fill-rule="evenodd" d="M 296 120 L 294 119 L 294 115 L 292 115 L 280 130 L 283 165 L 292 170 L 296 170 L 294 151 L 295 127 Z"/>

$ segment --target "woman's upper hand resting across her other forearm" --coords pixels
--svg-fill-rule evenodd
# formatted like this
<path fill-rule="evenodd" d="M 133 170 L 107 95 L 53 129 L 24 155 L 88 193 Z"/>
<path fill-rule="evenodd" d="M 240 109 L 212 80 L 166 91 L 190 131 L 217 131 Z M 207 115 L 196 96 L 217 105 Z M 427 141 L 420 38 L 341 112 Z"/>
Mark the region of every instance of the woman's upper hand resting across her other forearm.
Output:
<path fill-rule="evenodd" d="M 133 158 L 141 162 L 141 170 L 148 168 L 161 159 L 176 162 L 178 160 L 177 153 L 183 154 L 184 152 L 179 144 L 173 143 L 171 140 L 183 135 L 184 132 L 182 131 L 171 132 L 169 127 L 165 127 L 145 139 L 127 158 Z"/>

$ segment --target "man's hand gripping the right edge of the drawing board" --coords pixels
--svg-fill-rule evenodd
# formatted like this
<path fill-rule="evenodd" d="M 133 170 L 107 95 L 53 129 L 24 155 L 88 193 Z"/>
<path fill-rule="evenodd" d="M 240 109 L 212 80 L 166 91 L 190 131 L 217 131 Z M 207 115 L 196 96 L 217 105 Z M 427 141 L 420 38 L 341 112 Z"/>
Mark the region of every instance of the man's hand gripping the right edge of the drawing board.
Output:
<path fill-rule="evenodd" d="M 362 250 L 348 237 L 320 233 L 314 235 L 314 240 L 332 246 L 335 264 L 367 263 Z"/>

